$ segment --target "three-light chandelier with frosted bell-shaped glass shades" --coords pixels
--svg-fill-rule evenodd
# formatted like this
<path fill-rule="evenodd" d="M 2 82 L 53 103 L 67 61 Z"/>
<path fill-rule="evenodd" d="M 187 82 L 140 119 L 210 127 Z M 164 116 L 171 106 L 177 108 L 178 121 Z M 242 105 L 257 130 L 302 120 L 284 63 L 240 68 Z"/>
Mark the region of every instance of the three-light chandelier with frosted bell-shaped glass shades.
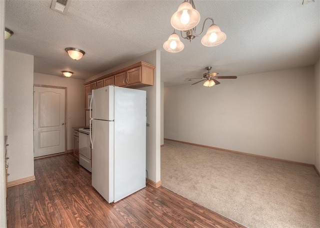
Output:
<path fill-rule="evenodd" d="M 196 36 L 202 35 L 206 20 L 211 20 L 212 24 L 207 29 L 206 34 L 201 38 L 201 43 L 207 47 L 220 45 L 226 39 L 226 35 L 216 24 L 214 24 L 211 17 L 205 18 L 201 32 L 196 34 L 195 29 L 200 21 L 200 14 L 195 9 L 193 0 L 184 0 L 184 2 L 180 4 L 171 17 L 171 25 L 174 29 L 180 30 L 183 39 L 188 39 L 191 42 Z M 182 34 L 182 31 L 185 32 L 184 35 Z M 177 38 L 175 37 L 172 39 L 173 34 L 175 34 L 175 30 L 173 30 L 173 33 L 169 36 L 168 40 L 163 43 L 163 48 L 168 52 L 179 52 L 183 50 L 184 46 L 178 45 L 178 43 L 181 42 L 178 35 L 175 34 Z"/>

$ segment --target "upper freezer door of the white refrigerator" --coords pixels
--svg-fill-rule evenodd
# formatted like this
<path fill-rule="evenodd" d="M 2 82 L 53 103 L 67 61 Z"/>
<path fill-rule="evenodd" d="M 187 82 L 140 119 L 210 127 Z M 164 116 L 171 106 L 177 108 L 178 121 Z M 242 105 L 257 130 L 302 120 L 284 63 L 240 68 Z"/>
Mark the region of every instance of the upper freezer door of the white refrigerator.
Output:
<path fill-rule="evenodd" d="M 114 86 L 92 90 L 91 119 L 114 120 Z"/>

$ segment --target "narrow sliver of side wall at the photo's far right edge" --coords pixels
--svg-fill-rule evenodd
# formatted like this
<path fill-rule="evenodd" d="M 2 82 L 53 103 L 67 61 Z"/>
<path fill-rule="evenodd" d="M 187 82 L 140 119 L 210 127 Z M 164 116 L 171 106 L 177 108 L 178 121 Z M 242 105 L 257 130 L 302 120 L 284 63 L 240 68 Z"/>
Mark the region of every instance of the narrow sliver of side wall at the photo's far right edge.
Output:
<path fill-rule="evenodd" d="M 320 171 L 320 59 L 314 65 L 315 76 L 315 153 L 314 165 Z"/>

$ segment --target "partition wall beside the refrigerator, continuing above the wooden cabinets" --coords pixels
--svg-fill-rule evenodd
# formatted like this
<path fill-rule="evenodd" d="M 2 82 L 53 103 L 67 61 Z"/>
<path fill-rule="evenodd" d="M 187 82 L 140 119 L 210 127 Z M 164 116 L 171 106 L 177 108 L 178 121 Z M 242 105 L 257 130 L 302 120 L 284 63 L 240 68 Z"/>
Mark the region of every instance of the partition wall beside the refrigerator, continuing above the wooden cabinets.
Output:
<path fill-rule="evenodd" d="M 146 121 L 150 124 L 146 130 L 146 169 L 148 177 L 153 182 L 160 181 L 160 111 L 161 111 L 161 91 L 160 91 L 160 51 L 154 50 L 142 56 L 132 59 L 129 62 L 120 64 L 116 67 L 103 71 L 87 81 L 96 79 L 108 73 L 130 66 L 136 62 L 143 61 L 155 66 L 154 85 L 139 88 L 146 91 L 147 97 L 147 116 Z"/>

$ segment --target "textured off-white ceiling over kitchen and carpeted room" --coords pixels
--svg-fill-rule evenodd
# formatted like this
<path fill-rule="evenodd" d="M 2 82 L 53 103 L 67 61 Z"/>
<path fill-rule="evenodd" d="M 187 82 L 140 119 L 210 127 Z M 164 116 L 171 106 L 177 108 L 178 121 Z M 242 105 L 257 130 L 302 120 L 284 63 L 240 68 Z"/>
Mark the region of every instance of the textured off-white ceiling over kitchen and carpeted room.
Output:
<path fill-rule="evenodd" d="M 14 35 L 5 49 L 34 55 L 34 71 L 85 79 L 130 59 L 161 51 L 161 81 L 189 83 L 205 66 L 219 75 L 245 75 L 313 65 L 319 59 L 319 0 L 195 0 L 204 18 L 226 33 L 226 41 L 205 47 L 201 37 L 182 40 L 184 50 L 168 53 L 162 44 L 173 32 L 171 15 L 182 0 L 71 0 L 66 14 L 51 0 L 6 0 L 5 26 Z M 205 24 L 205 30 L 209 27 Z M 201 25 L 198 26 L 198 30 Z M 179 33 L 178 33 L 179 34 Z M 74 61 L 64 51 L 85 51 Z"/>

